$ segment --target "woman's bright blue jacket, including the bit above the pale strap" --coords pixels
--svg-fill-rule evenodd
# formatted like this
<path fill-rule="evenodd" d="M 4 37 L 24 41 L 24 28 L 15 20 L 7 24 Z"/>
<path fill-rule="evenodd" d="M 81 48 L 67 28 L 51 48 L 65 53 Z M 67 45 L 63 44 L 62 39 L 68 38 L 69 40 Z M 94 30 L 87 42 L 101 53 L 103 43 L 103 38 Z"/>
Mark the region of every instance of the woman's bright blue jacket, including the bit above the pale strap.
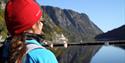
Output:
<path fill-rule="evenodd" d="M 26 40 L 26 43 L 41 46 L 36 40 Z M 55 55 L 46 48 L 37 48 L 29 51 L 23 63 L 58 63 Z"/>

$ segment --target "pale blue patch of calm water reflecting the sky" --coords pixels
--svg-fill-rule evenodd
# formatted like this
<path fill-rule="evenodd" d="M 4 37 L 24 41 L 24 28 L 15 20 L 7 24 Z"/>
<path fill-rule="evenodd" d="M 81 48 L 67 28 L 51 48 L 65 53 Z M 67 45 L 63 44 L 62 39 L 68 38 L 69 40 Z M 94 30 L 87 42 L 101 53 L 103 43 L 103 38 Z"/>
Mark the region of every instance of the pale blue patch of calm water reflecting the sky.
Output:
<path fill-rule="evenodd" d="M 103 46 L 91 63 L 125 63 L 125 50 L 114 46 Z"/>

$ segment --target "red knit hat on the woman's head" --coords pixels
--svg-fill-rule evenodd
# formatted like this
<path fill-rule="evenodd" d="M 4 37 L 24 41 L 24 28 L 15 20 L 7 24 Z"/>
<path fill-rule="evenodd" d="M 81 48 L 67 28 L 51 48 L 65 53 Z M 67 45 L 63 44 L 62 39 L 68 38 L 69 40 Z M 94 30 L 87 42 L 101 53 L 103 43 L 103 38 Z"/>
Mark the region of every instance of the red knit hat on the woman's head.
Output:
<path fill-rule="evenodd" d="M 10 0 L 5 9 L 5 22 L 11 35 L 31 28 L 42 16 L 34 0 Z"/>

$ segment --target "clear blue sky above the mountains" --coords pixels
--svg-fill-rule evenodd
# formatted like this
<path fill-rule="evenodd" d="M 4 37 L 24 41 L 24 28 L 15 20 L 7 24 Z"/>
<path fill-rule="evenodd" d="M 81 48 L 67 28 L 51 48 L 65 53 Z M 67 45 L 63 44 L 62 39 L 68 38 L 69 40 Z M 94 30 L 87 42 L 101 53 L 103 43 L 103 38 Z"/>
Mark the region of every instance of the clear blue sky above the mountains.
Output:
<path fill-rule="evenodd" d="M 37 0 L 40 5 L 85 13 L 103 32 L 125 25 L 125 0 Z"/>

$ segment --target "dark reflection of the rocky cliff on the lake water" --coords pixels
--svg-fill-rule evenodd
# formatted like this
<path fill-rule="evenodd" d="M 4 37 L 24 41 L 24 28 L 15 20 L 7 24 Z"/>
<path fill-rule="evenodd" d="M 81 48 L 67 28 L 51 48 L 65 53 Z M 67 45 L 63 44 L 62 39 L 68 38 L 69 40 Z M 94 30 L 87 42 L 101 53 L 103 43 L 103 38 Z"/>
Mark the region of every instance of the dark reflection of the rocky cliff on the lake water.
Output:
<path fill-rule="evenodd" d="M 59 63 L 90 63 L 100 46 L 72 46 L 54 50 Z"/>

